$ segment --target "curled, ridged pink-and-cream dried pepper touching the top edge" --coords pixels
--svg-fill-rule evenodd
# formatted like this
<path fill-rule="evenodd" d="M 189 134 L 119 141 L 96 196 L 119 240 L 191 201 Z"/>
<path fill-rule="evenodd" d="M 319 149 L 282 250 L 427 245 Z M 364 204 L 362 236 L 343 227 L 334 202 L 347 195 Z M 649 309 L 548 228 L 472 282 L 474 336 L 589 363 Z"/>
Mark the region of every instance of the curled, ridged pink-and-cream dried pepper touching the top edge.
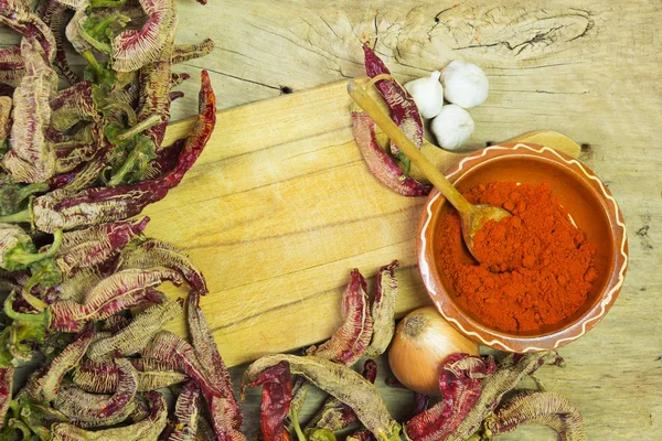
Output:
<path fill-rule="evenodd" d="M 136 71 L 159 60 L 168 34 L 177 28 L 174 0 L 139 0 L 148 19 L 139 31 L 127 30 L 113 40 L 113 68 Z"/>

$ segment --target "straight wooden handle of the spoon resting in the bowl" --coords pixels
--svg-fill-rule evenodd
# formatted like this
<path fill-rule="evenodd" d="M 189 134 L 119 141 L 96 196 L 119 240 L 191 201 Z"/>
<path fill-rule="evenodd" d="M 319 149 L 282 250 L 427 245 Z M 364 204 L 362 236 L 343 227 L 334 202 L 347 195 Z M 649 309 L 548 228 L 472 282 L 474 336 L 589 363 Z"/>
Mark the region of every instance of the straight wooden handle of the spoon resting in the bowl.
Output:
<path fill-rule="evenodd" d="M 403 133 L 401 128 L 382 111 L 380 106 L 367 95 L 363 87 L 356 85 L 354 82 L 350 82 L 348 83 L 348 93 L 367 116 L 380 126 L 384 133 L 405 152 L 412 163 L 418 168 L 458 212 L 466 214 L 473 212 L 473 205 L 452 186 L 446 176 L 414 146 L 414 142 Z"/>

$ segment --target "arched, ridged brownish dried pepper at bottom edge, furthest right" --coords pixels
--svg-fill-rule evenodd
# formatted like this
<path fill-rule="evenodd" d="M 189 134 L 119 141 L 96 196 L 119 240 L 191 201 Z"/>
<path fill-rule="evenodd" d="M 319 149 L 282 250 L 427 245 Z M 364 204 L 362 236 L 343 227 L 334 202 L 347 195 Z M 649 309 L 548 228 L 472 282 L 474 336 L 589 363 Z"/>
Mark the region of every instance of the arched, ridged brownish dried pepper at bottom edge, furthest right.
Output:
<path fill-rule="evenodd" d="M 538 423 L 554 429 L 562 441 L 584 441 L 579 410 L 554 392 L 523 391 L 509 398 L 483 422 L 485 434 L 498 437 L 522 424 Z"/>

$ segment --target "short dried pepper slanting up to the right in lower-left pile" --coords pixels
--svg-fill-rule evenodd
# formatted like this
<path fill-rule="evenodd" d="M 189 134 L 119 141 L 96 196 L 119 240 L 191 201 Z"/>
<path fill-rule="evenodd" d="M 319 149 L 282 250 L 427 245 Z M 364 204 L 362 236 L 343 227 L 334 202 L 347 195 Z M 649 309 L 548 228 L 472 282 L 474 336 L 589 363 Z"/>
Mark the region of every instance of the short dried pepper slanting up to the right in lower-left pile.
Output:
<path fill-rule="evenodd" d="M 42 375 L 31 379 L 30 394 L 36 399 L 52 400 L 57 396 L 64 376 L 78 365 L 92 338 L 94 325 L 89 323 L 76 336 L 76 340 L 66 346 L 44 370 Z"/>

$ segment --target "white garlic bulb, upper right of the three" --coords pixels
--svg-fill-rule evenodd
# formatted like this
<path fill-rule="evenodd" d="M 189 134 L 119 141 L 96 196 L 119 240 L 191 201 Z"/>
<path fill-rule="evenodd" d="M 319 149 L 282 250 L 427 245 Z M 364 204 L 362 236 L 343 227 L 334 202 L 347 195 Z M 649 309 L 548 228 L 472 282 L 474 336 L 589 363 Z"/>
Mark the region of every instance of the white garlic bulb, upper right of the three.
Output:
<path fill-rule="evenodd" d="M 476 64 L 463 60 L 456 60 L 446 66 L 441 73 L 441 83 L 446 99 L 466 109 L 488 99 L 488 76 Z"/>

